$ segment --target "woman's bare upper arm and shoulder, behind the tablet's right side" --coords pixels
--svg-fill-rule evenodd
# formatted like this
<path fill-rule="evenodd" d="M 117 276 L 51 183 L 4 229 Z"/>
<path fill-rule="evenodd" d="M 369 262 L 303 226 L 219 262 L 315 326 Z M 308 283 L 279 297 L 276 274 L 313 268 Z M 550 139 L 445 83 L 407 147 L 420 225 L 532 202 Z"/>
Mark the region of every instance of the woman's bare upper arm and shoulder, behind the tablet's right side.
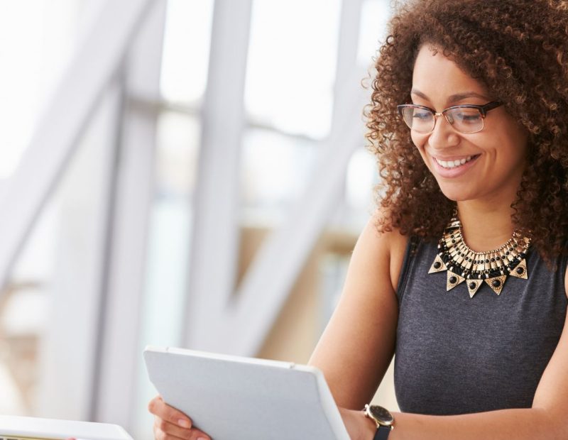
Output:
<path fill-rule="evenodd" d="M 395 349 L 395 282 L 408 240 L 398 231 L 378 233 L 374 222 L 359 236 L 341 299 L 310 359 L 337 405 L 350 409 L 371 400 Z"/>

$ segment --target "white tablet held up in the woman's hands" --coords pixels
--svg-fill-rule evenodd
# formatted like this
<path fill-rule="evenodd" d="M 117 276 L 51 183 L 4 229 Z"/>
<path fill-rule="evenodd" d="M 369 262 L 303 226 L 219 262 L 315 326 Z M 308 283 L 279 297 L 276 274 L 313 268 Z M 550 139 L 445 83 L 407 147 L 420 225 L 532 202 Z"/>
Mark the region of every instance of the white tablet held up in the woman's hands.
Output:
<path fill-rule="evenodd" d="M 165 402 L 215 440 L 349 440 L 317 368 L 181 348 L 144 358 Z"/>

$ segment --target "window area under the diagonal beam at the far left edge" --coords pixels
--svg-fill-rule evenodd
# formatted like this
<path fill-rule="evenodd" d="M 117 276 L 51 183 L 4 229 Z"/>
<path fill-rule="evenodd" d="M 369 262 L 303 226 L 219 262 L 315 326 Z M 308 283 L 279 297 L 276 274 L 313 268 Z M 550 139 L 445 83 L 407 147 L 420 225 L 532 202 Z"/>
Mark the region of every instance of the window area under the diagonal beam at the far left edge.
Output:
<path fill-rule="evenodd" d="M 39 347 L 49 321 L 55 222 L 55 211 L 45 211 L 0 290 L 1 414 L 31 415 L 35 408 Z"/>

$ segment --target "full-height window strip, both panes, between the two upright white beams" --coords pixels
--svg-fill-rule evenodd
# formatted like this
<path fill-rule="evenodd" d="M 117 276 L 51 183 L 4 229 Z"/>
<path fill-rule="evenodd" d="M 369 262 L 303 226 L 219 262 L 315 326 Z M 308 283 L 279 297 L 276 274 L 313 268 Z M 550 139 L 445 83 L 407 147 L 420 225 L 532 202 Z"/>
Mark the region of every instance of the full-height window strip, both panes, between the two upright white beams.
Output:
<path fill-rule="evenodd" d="M 188 111 L 158 115 L 140 352 L 146 344 L 181 344 L 213 8 L 214 0 L 168 0 L 160 93 L 166 101 L 186 104 Z M 155 390 L 142 362 L 136 375 L 131 434 L 150 440 L 153 416 L 147 405 Z"/>

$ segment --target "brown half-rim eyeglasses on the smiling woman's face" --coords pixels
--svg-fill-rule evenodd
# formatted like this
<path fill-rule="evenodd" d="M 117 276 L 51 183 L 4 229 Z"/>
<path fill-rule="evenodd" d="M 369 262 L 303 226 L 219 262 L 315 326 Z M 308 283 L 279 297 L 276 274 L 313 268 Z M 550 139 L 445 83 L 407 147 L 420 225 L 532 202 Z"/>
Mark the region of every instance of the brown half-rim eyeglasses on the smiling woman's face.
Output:
<path fill-rule="evenodd" d="M 484 129 L 484 119 L 489 110 L 502 106 L 503 103 L 492 101 L 484 106 L 465 104 L 448 107 L 437 113 L 435 110 L 415 104 L 402 104 L 397 106 L 398 113 L 410 130 L 417 133 L 430 133 L 436 126 L 437 116 L 444 116 L 449 125 L 459 133 L 477 133 Z"/>

